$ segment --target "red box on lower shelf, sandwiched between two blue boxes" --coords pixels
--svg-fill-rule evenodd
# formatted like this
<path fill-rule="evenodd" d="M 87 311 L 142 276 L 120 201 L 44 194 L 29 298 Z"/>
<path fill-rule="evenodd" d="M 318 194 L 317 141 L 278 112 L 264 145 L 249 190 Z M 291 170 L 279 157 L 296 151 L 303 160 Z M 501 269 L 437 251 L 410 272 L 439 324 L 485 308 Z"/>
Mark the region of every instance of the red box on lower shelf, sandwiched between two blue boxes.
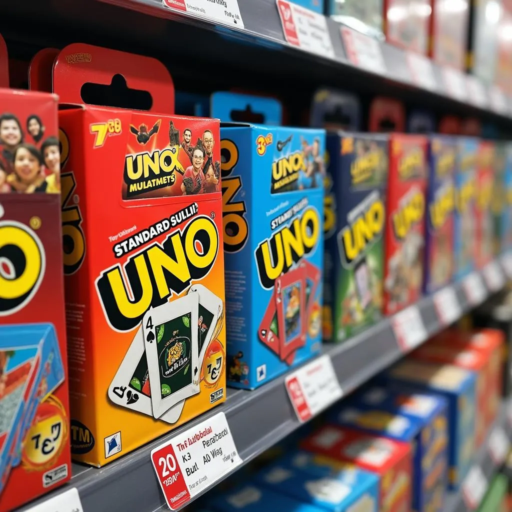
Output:
<path fill-rule="evenodd" d="M 412 448 L 408 443 L 325 425 L 306 438 L 303 449 L 348 462 L 379 477 L 379 511 L 411 508 Z"/>

